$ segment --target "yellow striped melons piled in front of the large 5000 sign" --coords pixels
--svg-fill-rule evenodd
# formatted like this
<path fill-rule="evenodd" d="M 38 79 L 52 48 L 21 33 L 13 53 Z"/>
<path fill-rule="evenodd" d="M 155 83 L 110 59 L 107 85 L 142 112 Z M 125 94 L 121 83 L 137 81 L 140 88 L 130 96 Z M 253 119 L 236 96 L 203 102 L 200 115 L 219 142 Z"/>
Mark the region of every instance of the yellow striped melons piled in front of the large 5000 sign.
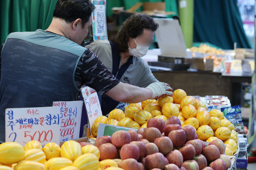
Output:
<path fill-rule="evenodd" d="M 106 165 L 118 167 L 113 160 L 99 159 L 100 151 L 96 146 L 81 147 L 74 140 L 64 142 L 61 147 L 48 143 L 43 148 L 35 140 L 24 148 L 16 142 L 0 144 L 0 170 L 105 170 Z"/>

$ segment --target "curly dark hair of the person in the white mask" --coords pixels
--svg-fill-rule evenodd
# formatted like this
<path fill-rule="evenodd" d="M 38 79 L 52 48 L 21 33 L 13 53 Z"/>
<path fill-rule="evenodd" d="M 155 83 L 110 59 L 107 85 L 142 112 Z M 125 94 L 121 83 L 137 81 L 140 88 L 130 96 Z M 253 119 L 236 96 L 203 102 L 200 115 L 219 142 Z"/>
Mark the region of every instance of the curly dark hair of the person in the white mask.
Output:
<path fill-rule="evenodd" d="M 143 34 L 144 29 L 156 31 L 158 27 L 159 25 L 154 22 L 151 16 L 146 14 L 133 14 L 123 22 L 113 42 L 119 46 L 120 52 L 127 52 L 129 37 L 136 38 Z"/>

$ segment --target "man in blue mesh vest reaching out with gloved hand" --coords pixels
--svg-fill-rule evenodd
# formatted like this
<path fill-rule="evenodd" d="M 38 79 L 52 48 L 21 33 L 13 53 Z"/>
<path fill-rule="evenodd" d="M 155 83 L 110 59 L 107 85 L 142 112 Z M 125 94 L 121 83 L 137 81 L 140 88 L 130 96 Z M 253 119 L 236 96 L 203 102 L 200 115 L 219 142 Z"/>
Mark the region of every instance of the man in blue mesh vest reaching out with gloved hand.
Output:
<path fill-rule="evenodd" d="M 6 38 L 0 48 L 0 141 L 5 138 L 6 108 L 77 100 L 82 84 L 125 103 L 172 95 L 163 82 L 146 88 L 120 82 L 93 52 L 80 46 L 94 8 L 90 0 L 58 0 L 47 30 L 14 32 Z"/>

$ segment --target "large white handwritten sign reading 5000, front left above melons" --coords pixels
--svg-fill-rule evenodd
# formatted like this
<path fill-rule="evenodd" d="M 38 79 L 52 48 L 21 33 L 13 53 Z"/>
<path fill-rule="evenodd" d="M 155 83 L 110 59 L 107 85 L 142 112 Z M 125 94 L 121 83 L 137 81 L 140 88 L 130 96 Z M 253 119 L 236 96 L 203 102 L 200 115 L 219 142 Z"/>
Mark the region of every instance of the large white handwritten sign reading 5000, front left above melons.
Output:
<path fill-rule="evenodd" d="M 59 108 L 7 108 L 5 110 L 5 141 L 25 146 L 31 140 L 43 146 L 49 142 L 59 144 Z"/>

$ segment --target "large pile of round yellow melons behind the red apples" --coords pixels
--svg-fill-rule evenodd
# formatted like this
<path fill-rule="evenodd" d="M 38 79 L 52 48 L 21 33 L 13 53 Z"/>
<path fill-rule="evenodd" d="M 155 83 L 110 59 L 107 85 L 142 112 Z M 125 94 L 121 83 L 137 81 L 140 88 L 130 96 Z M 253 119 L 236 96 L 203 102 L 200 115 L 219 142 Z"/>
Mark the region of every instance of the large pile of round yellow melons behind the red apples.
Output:
<path fill-rule="evenodd" d="M 210 142 L 219 138 L 227 146 L 227 155 L 233 155 L 237 149 L 237 134 L 234 125 L 217 109 L 210 112 L 203 101 L 197 100 L 182 89 L 176 89 L 173 96 L 162 96 L 157 100 L 149 99 L 139 103 L 131 103 L 123 112 L 114 109 L 106 116 L 96 118 L 91 127 L 91 134 L 96 137 L 99 123 L 123 126 L 133 129 L 146 128 L 150 118 L 166 120 L 176 116 L 181 126 L 192 125 L 198 139 Z M 232 146 L 232 147 L 229 147 Z"/>

